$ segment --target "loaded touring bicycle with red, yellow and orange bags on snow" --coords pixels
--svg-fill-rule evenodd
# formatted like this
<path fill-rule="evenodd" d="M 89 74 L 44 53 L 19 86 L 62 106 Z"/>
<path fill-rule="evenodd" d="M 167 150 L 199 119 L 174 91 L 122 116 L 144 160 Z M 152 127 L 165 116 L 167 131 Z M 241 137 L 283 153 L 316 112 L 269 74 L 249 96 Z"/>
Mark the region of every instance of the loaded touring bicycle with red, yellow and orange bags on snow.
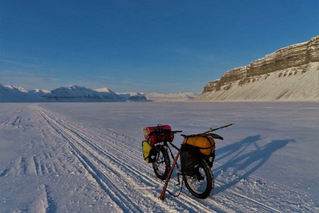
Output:
<path fill-rule="evenodd" d="M 185 182 L 189 192 L 200 199 L 205 199 L 211 195 L 214 187 L 211 168 L 215 158 L 215 139 L 223 140 L 223 137 L 218 136 L 213 131 L 231 125 L 233 124 L 209 129 L 209 131 L 203 133 L 181 135 L 184 140 L 180 148 L 172 142 L 174 134 L 181 131 L 172 131 L 171 126 L 160 124 L 142 128 L 145 136 L 145 140 L 142 141 L 144 159 L 147 163 L 152 163 L 157 178 L 165 180 L 162 194 L 159 197 L 161 200 L 164 200 L 167 185 L 175 166 L 177 167 L 177 179 L 179 184 L 181 182 L 181 187 Z M 176 155 L 173 154 L 172 150 L 174 149 L 177 150 Z M 172 164 L 169 156 L 174 160 Z M 177 163 L 179 158 L 180 163 Z M 169 193 L 173 195 L 172 192 Z M 173 196 L 177 197 L 179 193 Z"/>

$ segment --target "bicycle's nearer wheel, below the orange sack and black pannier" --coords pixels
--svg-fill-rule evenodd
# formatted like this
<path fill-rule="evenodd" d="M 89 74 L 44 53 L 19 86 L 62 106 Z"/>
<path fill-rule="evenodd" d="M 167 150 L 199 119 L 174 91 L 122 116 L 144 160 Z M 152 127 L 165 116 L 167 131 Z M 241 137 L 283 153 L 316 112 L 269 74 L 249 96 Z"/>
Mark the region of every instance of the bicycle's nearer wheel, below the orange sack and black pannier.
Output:
<path fill-rule="evenodd" d="M 205 199 L 211 195 L 214 187 L 214 177 L 213 173 L 211 172 L 211 168 L 209 168 L 209 165 L 205 160 L 201 159 L 199 163 L 199 170 L 196 175 L 191 177 L 183 175 L 183 179 L 187 189 L 195 197 L 198 197 L 199 199 Z"/>

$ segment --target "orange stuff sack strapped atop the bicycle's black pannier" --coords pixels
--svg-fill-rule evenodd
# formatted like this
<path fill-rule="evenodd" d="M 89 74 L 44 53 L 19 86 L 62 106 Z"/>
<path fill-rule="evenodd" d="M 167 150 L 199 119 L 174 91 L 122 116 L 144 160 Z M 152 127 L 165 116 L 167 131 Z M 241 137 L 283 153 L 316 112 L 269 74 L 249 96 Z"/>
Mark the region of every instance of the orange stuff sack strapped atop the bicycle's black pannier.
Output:
<path fill-rule="evenodd" d="M 215 141 L 212 136 L 186 136 L 183 143 L 196 146 L 204 155 L 211 155 L 215 151 Z"/>

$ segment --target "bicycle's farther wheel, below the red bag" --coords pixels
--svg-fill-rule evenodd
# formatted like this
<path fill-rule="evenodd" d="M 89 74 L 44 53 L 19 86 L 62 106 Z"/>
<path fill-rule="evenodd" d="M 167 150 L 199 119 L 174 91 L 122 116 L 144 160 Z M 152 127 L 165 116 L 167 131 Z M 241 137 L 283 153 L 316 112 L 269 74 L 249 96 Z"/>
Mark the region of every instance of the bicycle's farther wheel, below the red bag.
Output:
<path fill-rule="evenodd" d="M 152 163 L 153 170 L 157 178 L 165 180 L 169 170 L 171 169 L 171 162 L 169 160 L 169 155 L 167 149 L 163 146 L 159 146 L 156 155 L 156 161 Z"/>

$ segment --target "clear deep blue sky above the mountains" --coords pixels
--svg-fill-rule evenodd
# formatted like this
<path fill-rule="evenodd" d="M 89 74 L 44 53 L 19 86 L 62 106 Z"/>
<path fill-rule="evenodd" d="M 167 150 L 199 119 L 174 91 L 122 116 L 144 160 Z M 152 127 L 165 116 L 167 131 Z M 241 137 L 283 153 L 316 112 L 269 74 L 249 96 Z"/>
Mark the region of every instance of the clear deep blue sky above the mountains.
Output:
<path fill-rule="evenodd" d="M 319 35 L 318 0 L 0 0 L 0 84 L 202 92 Z"/>

